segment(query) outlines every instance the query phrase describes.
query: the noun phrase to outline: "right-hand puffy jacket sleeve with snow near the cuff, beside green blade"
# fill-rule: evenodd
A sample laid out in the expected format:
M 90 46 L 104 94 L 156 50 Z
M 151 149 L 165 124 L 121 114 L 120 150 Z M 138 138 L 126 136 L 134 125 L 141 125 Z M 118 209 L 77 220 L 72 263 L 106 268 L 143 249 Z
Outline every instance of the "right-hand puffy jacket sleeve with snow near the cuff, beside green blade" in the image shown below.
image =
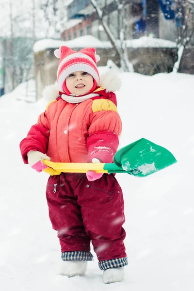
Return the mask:
M 88 162 L 92 162 L 93 158 L 97 158 L 100 162 L 113 162 L 119 144 L 118 137 L 122 130 L 121 118 L 113 104 L 106 106 L 105 103 L 105 106 L 96 109 L 93 106 L 93 110 L 96 112 L 93 113 L 87 138 Z

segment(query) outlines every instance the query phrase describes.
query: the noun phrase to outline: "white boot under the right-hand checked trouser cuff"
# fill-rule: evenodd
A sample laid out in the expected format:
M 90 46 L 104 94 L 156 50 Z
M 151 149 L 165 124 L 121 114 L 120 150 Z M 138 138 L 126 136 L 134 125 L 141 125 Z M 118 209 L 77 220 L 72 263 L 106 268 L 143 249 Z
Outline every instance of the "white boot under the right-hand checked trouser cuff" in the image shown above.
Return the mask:
M 105 284 L 109 284 L 114 282 L 120 282 L 124 279 L 124 277 L 125 277 L 124 267 L 121 267 L 107 269 L 103 271 L 102 279 Z

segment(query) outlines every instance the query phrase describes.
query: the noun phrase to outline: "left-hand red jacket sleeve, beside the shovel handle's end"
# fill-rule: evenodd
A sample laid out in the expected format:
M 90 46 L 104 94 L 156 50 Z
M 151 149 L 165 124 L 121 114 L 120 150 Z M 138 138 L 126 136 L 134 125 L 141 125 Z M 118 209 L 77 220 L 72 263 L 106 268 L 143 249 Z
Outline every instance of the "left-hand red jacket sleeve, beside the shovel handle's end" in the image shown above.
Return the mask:
M 48 120 L 48 112 L 41 113 L 38 117 L 38 122 L 29 130 L 19 147 L 24 163 L 28 163 L 28 152 L 38 150 L 45 154 L 49 142 L 50 126 Z

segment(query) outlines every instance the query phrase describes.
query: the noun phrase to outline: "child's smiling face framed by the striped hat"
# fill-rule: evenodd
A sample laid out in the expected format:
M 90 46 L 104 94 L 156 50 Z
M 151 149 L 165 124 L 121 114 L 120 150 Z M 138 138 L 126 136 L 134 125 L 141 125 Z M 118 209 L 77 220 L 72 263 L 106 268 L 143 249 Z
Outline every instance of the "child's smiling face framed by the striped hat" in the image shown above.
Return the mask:
M 93 77 L 84 71 L 74 72 L 66 78 L 66 87 L 71 94 L 85 95 L 92 89 L 93 85 Z

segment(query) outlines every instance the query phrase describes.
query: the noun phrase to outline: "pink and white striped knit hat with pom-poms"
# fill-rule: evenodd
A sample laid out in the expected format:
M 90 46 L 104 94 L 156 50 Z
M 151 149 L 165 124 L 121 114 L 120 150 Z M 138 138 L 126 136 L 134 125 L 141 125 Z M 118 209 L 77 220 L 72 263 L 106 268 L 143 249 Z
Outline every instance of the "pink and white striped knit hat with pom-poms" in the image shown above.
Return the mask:
M 97 62 L 100 60 L 100 57 L 96 54 L 96 49 L 85 48 L 74 51 L 73 49 L 62 46 L 60 49 L 54 51 L 54 55 L 60 58 L 57 70 L 57 84 L 60 91 L 66 91 L 66 77 L 77 71 L 89 73 L 93 77 L 94 83 L 99 84 L 100 78 L 97 70 Z

